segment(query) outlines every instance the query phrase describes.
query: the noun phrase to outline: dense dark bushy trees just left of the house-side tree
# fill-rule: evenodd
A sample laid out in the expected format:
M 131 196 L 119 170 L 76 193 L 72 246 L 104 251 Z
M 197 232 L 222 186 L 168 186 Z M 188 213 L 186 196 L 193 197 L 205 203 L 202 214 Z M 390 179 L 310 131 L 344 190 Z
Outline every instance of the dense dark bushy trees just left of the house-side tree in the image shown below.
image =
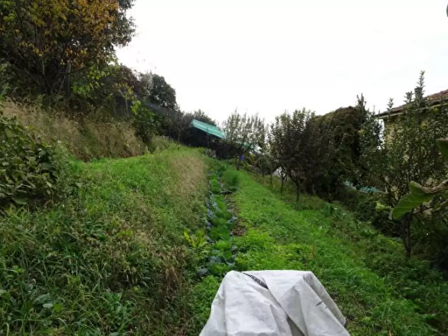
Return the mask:
M 268 157 L 301 191 L 332 200 L 357 184 L 359 130 L 365 119 L 363 98 L 357 107 L 340 108 L 323 116 L 307 109 L 284 112 L 270 125 Z

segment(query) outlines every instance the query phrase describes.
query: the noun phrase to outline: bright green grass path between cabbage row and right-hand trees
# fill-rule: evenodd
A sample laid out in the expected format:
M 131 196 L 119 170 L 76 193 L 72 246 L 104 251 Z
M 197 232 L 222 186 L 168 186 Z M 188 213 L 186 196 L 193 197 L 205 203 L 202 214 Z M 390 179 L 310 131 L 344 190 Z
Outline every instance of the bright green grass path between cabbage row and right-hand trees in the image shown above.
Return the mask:
M 280 198 L 247 173 L 239 175 L 240 190 L 234 195 L 234 203 L 240 225 L 246 231 L 234 238 L 239 251 L 238 270 L 313 271 L 347 317 L 347 329 L 354 336 L 445 334 L 443 329 L 436 331 L 427 323 L 432 314 L 419 311 L 415 302 L 397 291 L 386 276 L 367 266 L 366 256 L 362 255 L 366 251 L 358 248 L 360 244 L 349 241 L 343 231 L 335 234 L 340 231 L 339 226 L 353 222 L 344 218 L 349 215 L 307 196 L 301 201 L 306 204 L 297 211 L 295 204 L 285 202 L 288 196 Z M 359 230 L 366 231 L 363 232 L 365 242 L 370 236 L 377 237 L 371 230 Z M 399 247 L 385 237 L 378 236 L 378 239 Z M 218 285 L 219 280 L 209 276 L 195 288 L 194 309 L 202 323 Z M 438 303 L 446 308 L 442 299 Z M 443 316 L 440 318 L 443 321 Z

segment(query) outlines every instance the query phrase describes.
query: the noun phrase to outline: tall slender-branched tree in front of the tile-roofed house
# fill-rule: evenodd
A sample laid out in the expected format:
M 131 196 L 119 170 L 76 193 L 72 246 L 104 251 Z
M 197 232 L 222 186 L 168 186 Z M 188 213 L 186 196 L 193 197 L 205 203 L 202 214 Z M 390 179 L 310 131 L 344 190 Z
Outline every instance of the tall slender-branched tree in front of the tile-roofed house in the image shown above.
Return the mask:
M 446 176 L 447 164 L 439 155 L 435 139 L 448 134 L 446 108 L 430 106 L 423 97 L 424 72 L 421 72 L 417 87 L 406 93 L 404 111 L 397 118 L 394 128 L 386 128 L 384 142 L 373 148 L 371 144 L 381 141 L 374 123 L 363 129 L 364 162 L 371 167 L 370 181 L 376 181 L 387 197 L 388 205 L 397 206 L 399 200 L 412 191 L 418 193 L 418 186 L 435 187 L 437 181 Z M 392 101 L 389 102 L 389 110 Z M 413 185 L 411 181 L 418 185 Z M 411 187 L 409 187 L 411 186 Z M 428 189 L 430 190 L 430 189 Z M 429 199 L 428 199 L 429 200 Z M 423 215 L 424 207 L 407 212 L 399 218 L 400 235 L 409 257 L 412 251 L 411 228 L 417 217 Z M 395 213 L 397 210 L 395 210 Z M 398 217 L 398 216 L 396 216 Z

